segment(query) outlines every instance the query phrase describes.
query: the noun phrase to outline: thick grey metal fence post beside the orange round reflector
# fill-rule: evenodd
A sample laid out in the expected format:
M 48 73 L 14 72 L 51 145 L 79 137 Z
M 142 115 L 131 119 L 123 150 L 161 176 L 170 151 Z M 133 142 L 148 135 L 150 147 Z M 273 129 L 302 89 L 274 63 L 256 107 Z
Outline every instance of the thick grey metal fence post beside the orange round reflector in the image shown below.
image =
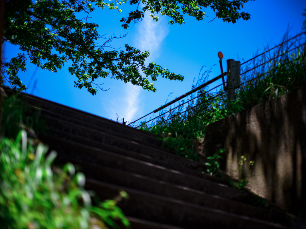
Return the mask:
M 227 102 L 235 101 L 235 88 L 240 87 L 240 61 L 226 60 Z

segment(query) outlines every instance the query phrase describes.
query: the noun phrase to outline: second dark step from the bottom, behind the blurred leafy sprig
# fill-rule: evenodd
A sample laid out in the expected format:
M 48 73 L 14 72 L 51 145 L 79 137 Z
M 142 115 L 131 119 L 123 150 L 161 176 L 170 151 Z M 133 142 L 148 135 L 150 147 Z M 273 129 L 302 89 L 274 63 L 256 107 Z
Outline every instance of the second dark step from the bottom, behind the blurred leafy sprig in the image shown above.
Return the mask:
M 114 198 L 122 188 L 94 179 L 87 179 L 86 189 L 94 190 L 101 199 Z M 235 229 L 281 229 L 280 224 L 270 223 L 247 216 L 226 213 L 193 203 L 163 197 L 131 188 L 124 188 L 129 200 L 118 203 L 126 216 L 169 224 L 188 229 L 235 228 Z

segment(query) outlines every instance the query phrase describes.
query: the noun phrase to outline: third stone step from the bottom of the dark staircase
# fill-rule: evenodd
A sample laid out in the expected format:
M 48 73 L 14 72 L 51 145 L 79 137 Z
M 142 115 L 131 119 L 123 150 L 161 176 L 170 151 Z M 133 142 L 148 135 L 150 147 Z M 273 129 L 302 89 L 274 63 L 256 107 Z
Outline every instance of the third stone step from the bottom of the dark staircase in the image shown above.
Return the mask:
M 66 158 L 69 161 L 69 158 Z M 81 171 L 87 178 L 92 178 L 105 183 L 115 184 L 144 191 L 160 196 L 174 198 L 185 202 L 190 202 L 200 206 L 219 209 L 227 213 L 241 214 L 259 220 L 290 225 L 286 220 L 286 215 L 268 211 L 267 209 L 253 207 L 240 202 L 235 202 L 217 195 L 206 194 L 192 188 L 174 185 L 169 182 L 152 179 L 136 173 L 129 173 L 119 169 L 107 168 L 105 166 L 93 165 L 84 161 L 72 160 L 73 164 L 81 166 Z

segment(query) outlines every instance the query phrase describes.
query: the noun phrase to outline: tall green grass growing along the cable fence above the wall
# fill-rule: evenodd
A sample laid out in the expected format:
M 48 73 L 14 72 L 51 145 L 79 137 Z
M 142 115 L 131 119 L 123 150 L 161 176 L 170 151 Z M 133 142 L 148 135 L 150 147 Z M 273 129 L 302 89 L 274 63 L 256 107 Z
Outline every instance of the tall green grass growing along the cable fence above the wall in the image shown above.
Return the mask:
M 169 112 L 160 111 L 159 118 L 150 125 L 143 123 L 140 129 L 158 135 L 163 145 L 177 155 L 196 161 L 204 159 L 205 152 L 200 145 L 207 124 L 306 85 L 304 40 L 298 37 L 284 43 L 287 39 L 288 32 L 273 52 L 264 53 L 242 66 L 241 88 L 236 90 L 236 100 L 232 103 L 227 103 L 222 89 L 212 92 L 206 87 L 188 96 L 179 106 L 170 107 Z M 267 45 L 266 50 L 269 49 Z M 258 51 L 254 56 L 258 56 Z M 207 81 L 210 73 L 211 69 L 199 74 L 192 88 Z

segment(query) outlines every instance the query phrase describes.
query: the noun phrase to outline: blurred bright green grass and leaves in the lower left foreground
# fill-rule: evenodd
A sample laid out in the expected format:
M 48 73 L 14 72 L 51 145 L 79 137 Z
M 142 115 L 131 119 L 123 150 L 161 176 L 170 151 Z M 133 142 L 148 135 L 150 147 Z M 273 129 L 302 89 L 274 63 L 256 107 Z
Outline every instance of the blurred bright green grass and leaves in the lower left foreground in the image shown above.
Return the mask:
M 128 198 L 121 190 L 114 200 L 100 202 L 84 189 L 85 176 L 73 164 L 52 165 L 57 153 L 38 143 L 33 129 L 41 122 L 27 116 L 17 95 L 2 100 L 0 138 L 0 228 L 129 228 L 129 221 L 116 206 Z M 36 119 L 37 118 L 37 119 Z M 17 134 L 16 134 L 17 133 Z M 91 199 L 98 199 L 92 205 Z M 96 228 L 95 227 L 95 228 Z

